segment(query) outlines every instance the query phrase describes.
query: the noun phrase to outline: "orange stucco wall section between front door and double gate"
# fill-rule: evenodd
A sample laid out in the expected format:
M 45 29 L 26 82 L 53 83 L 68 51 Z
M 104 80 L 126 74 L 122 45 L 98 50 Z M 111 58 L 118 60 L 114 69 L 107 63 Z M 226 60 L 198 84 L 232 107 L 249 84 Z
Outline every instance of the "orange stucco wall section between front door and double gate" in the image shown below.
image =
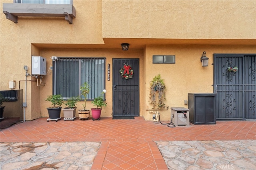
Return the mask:
M 149 105 L 150 81 L 161 74 L 166 83 L 166 106 L 185 107 L 188 93 L 214 93 L 213 53 L 255 53 L 255 45 L 154 45 L 146 48 L 146 109 Z M 209 58 L 208 67 L 202 67 L 200 57 L 203 51 Z M 152 64 L 152 55 L 175 55 L 175 64 Z M 170 109 L 159 111 L 161 120 L 170 119 Z M 149 113 L 149 111 L 147 111 Z M 146 114 L 146 119 L 152 119 Z

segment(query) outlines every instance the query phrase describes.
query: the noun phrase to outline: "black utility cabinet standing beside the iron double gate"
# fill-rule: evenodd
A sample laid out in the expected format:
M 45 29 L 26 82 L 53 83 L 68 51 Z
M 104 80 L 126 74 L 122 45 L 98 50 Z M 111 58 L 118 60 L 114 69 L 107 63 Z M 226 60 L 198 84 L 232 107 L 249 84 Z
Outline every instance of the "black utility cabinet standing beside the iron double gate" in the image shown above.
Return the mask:
M 188 109 L 194 125 L 216 124 L 214 93 L 188 93 Z

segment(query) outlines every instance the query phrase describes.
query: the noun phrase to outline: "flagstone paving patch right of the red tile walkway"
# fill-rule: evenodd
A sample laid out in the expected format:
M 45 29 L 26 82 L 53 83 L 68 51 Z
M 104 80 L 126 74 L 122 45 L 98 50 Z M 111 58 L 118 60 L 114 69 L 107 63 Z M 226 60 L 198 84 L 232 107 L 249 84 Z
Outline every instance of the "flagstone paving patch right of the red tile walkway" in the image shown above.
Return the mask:
M 256 140 L 158 141 L 170 170 L 255 170 Z

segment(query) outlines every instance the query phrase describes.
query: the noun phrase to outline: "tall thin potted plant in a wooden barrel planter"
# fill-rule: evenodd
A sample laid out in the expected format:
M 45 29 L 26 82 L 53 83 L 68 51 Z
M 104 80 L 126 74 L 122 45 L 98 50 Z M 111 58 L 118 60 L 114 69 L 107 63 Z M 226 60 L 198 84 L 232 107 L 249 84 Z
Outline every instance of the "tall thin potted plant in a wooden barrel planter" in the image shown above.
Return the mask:
M 82 105 L 83 110 L 79 110 L 78 115 L 79 115 L 79 119 L 87 120 L 90 116 L 90 110 L 86 110 L 86 98 L 90 92 L 89 84 L 87 82 L 84 82 L 84 84 L 80 86 L 80 91 L 81 91 L 81 95 L 84 96 L 84 104 Z

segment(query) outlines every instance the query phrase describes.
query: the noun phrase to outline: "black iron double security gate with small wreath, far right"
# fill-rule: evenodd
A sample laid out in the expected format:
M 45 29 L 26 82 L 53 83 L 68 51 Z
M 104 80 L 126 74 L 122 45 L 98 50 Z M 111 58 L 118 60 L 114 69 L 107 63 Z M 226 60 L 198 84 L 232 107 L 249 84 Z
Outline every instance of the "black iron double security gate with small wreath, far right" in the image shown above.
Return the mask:
M 256 119 L 255 69 L 256 54 L 214 54 L 216 120 Z

